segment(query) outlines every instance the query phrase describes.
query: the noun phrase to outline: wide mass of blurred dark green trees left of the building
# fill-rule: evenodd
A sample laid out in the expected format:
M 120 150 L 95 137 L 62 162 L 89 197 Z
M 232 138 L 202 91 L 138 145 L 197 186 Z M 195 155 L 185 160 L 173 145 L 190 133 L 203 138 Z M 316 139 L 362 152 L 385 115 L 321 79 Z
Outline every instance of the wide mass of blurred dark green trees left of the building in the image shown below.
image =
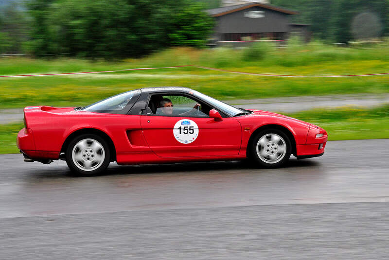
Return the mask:
M 172 45 L 202 46 L 213 25 L 204 6 L 189 0 L 33 0 L 29 8 L 35 53 L 139 57 Z

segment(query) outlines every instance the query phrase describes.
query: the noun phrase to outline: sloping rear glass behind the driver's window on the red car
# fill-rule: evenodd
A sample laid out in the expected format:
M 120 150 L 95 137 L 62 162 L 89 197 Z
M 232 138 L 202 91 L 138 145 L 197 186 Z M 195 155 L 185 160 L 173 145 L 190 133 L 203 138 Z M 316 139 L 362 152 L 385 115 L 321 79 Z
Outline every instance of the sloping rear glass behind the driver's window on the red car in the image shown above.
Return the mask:
M 121 111 L 131 101 L 133 97 L 139 94 L 141 90 L 132 90 L 124 92 L 96 103 L 82 107 L 80 110 L 97 112 L 97 111 Z

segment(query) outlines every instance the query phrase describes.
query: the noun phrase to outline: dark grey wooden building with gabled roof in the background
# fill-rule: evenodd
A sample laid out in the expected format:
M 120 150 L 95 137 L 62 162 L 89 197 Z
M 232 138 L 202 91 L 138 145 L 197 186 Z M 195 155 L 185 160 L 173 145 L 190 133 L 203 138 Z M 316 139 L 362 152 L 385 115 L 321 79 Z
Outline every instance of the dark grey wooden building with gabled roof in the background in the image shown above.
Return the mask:
M 216 19 L 212 36 L 214 45 L 245 46 L 264 39 L 284 41 L 291 32 L 308 33 L 306 28 L 309 25 L 289 23 L 289 16 L 298 14 L 296 11 L 263 1 L 247 0 L 247 3 L 234 5 L 230 2 L 225 0 L 226 6 L 207 10 Z M 307 35 L 301 36 L 307 38 Z

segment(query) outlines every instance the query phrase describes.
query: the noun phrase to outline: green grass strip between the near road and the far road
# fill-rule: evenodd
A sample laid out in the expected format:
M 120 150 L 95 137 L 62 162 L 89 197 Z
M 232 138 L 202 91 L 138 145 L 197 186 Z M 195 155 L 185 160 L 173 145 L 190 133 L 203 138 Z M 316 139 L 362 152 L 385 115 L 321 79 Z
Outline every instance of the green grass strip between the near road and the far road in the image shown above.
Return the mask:
M 389 105 L 373 108 L 338 108 L 287 114 L 327 130 L 329 140 L 389 138 Z M 0 125 L 0 154 L 18 153 L 16 136 L 23 123 Z

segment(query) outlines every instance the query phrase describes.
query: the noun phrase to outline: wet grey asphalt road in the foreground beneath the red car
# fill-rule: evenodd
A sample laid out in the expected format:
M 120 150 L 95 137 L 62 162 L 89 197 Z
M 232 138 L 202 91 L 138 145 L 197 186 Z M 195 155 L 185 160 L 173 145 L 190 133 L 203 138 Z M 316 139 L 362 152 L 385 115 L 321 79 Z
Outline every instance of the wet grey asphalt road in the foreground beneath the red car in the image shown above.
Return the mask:
M 282 169 L 117 166 L 69 176 L 0 156 L 0 259 L 389 259 L 389 139 Z

